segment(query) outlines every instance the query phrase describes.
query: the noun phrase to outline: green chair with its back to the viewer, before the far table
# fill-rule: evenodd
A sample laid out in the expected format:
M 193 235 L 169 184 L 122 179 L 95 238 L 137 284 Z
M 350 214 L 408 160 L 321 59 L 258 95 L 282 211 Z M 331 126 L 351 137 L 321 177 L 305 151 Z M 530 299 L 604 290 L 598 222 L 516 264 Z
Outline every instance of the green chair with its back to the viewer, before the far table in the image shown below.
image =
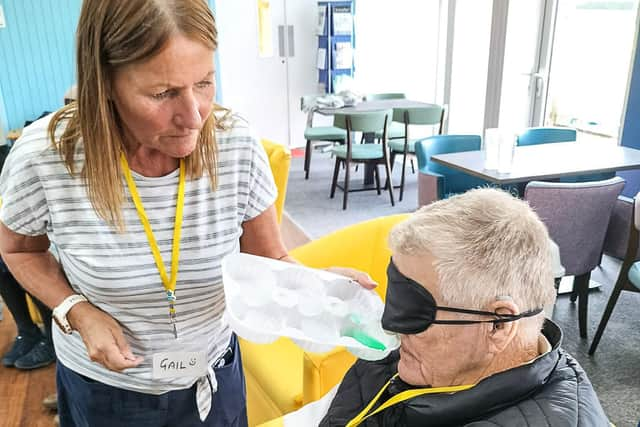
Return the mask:
M 391 121 L 393 110 L 368 111 L 363 113 L 336 113 L 334 116 L 334 125 L 347 132 L 347 143 L 342 146 L 333 147 L 331 150 L 336 157 L 336 163 L 333 169 L 333 181 L 331 182 L 331 195 L 333 196 L 338 186 L 338 173 L 340 166 L 344 165 L 345 177 L 342 209 L 347 209 L 347 196 L 349 191 L 370 190 L 370 188 L 349 189 L 349 172 L 351 163 L 365 163 L 373 166 L 373 173 L 376 181 L 375 189 L 378 194 L 380 191 L 380 172 L 378 165 L 383 164 L 387 173 L 386 188 L 389 191 L 391 206 L 395 206 L 393 200 L 393 184 L 391 183 L 391 165 L 389 164 L 389 153 L 387 150 L 387 125 Z M 377 132 L 382 130 L 381 144 L 353 144 L 353 132 Z

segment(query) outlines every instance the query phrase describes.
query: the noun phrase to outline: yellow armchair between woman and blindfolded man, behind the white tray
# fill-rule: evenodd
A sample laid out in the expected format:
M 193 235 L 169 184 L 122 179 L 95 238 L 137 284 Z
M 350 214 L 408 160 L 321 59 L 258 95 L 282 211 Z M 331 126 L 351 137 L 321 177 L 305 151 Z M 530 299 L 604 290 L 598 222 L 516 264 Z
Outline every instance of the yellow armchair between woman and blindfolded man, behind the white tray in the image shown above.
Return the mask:
M 392 215 L 348 226 L 294 249 L 291 255 L 309 267 L 344 266 L 366 271 L 378 282 L 377 291 L 384 297 L 390 257 L 387 235 L 406 217 Z M 240 346 L 250 426 L 319 399 L 342 380 L 355 361 L 343 348 L 311 354 L 286 338 L 266 345 L 240 340 Z

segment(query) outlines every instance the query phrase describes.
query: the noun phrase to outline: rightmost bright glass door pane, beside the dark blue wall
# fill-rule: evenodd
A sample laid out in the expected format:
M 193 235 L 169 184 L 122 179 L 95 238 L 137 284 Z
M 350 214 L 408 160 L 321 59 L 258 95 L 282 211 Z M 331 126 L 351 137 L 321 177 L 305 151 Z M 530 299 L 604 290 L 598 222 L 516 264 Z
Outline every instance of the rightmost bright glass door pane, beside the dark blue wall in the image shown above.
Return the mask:
M 558 0 L 545 126 L 618 142 L 637 11 L 638 0 Z

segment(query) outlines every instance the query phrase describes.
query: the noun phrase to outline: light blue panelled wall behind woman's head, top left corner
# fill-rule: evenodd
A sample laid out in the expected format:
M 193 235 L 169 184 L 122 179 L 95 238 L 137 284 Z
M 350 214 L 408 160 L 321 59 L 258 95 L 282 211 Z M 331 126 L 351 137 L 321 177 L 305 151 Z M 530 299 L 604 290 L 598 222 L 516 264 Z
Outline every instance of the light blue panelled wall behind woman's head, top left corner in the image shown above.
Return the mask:
M 0 93 L 8 128 L 63 103 L 75 80 L 74 36 L 81 0 L 4 0 Z

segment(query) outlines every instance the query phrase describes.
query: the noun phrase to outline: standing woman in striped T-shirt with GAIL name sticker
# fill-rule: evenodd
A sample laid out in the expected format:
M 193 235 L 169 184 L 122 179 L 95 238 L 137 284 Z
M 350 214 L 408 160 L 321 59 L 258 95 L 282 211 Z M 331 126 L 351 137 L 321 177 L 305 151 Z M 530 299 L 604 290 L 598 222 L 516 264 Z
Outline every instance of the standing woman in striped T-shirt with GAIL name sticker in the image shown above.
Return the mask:
M 85 0 L 77 103 L 7 159 L 0 250 L 55 307 L 63 426 L 247 423 L 220 262 L 292 260 L 262 148 L 213 104 L 216 46 L 204 0 Z

